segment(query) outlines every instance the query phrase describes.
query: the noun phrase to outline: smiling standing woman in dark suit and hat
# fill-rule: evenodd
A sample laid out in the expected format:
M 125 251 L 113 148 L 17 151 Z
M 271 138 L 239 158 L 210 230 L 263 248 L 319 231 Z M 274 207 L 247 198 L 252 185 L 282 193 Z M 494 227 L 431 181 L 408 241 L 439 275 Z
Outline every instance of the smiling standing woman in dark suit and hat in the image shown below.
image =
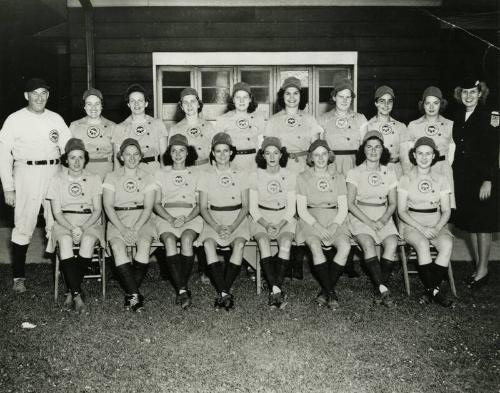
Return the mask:
M 473 289 L 488 281 L 492 233 L 500 230 L 499 115 L 484 107 L 488 93 L 485 82 L 470 77 L 455 89 L 455 99 L 462 106 L 453 125 L 457 141 L 453 163 L 457 197 L 454 223 L 470 234 L 476 262 L 470 281 Z

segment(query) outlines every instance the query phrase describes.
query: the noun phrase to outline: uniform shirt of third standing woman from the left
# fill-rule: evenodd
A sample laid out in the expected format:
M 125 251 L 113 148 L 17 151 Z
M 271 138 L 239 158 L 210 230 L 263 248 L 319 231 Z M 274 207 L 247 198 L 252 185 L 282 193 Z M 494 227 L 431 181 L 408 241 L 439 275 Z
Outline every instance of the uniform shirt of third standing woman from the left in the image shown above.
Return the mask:
M 198 160 L 208 159 L 215 135 L 215 129 L 210 122 L 198 117 L 197 124 L 189 125 L 186 119 L 182 119 L 170 128 L 169 137 L 175 134 L 182 134 L 187 138 L 188 143 L 196 149 Z

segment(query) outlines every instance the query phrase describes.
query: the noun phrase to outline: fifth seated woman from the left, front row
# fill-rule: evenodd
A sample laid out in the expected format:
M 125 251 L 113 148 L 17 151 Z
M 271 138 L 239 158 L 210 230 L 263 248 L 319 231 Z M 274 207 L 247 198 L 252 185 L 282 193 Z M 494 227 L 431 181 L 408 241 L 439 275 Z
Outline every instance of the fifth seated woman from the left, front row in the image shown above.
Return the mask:
M 269 284 L 269 306 L 283 308 L 283 281 L 295 234 L 296 176 L 285 167 L 288 153 L 279 138 L 267 137 L 257 152 L 259 169 L 250 174 L 250 232 L 259 244 L 260 265 Z M 278 254 L 271 255 L 271 240 Z

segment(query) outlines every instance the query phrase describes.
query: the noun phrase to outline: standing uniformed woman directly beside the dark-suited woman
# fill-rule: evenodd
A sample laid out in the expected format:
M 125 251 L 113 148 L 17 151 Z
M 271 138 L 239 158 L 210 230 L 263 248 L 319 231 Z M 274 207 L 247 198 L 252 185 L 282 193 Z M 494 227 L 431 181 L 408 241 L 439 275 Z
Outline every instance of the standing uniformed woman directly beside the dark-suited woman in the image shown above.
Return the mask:
M 455 191 L 453 183 L 453 171 L 451 164 L 455 156 L 455 142 L 453 141 L 453 121 L 441 115 L 446 109 L 448 101 L 443 98 L 441 90 L 435 86 L 429 86 L 422 94 L 422 100 L 418 103 L 419 110 L 423 116 L 408 124 L 406 138 L 402 141 L 401 154 L 408 154 L 416 140 L 423 136 L 432 138 L 439 150 L 438 161 L 432 170 L 446 176 L 451 186 L 451 208 L 455 209 Z

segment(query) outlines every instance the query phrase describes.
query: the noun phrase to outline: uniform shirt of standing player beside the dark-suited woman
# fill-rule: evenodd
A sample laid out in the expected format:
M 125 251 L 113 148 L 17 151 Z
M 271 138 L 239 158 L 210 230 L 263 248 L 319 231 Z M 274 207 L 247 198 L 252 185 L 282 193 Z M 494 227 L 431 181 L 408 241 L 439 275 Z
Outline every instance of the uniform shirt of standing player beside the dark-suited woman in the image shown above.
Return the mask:
M 439 116 L 436 122 L 429 122 L 425 116 L 413 120 L 408 124 L 406 140 L 402 142 L 412 142 L 414 144 L 418 138 L 430 137 L 436 143 L 441 156 L 448 158 L 450 145 L 453 143 L 453 121 Z

